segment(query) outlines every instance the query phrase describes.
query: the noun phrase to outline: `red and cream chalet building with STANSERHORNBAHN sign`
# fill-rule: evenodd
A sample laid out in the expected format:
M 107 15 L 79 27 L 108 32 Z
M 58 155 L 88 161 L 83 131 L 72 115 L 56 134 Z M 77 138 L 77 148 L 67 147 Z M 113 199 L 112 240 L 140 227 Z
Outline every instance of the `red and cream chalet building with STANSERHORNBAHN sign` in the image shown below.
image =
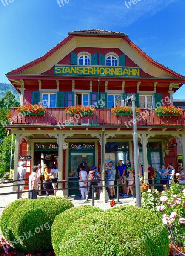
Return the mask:
M 16 135 L 14 169 L 25 160 L 27 176 L 34 165 L 56 163 L 59 179 L 73 179 L 71 186 L 77 186 L 80 163 L 98 166 L 103 154 L 116 165 L 119 159 L 130 160 L 134 169 L 133 118 L 111 113 L 129 93 L 141 109 L 137 132 L 145 179 L 148 162 L 156 169 L 174 163 L 177 169 L 177 148 L 171 147 L 176 138 L 185 159 L 185 113 L 167 117 L 154 112 L 173 105 L 172 95 L 185 77 L 154 61 L 124 33 L 73 31 L 45 55 L 6 76 L 20 93 L 20 105 L 47 108 L 44 115 L 21 115 L 12 108 L 6 125 Z M 73 105 L 93 105 L 96 112 L 71 121 L 65 108 Z

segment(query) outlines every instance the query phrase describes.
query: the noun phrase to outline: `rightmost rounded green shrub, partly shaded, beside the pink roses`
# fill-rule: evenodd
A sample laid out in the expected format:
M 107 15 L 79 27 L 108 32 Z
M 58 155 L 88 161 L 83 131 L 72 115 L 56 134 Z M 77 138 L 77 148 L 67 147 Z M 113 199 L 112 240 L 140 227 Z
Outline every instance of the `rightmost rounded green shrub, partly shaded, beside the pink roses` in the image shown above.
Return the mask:
M 165 226 L 153 212 L 137 206 L 120 206 L 106 211 L 119 212 L 125 217 L 125 221 L 137 224 L 137 229 L 141 229 L 147 239 L 151 253 L 154 256 L 169 255 L 169 239 Z

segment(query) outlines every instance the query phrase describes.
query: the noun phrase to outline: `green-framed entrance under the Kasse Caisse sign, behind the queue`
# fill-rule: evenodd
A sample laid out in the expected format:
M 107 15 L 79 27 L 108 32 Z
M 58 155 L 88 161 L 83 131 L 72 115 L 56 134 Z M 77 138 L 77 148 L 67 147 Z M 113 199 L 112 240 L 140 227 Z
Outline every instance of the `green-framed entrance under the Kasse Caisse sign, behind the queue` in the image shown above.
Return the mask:
M 94 152 L 90 151 L 78 151 L 70 152 L 69 155 L 69 187 L 78 187 L 77 182 L 77 169 L 80 167 L 80 163 L 86 162 L 87 165 L 91 168 L 95 165 Z M 78 195 L 79 189 L 70 189 L 69 195 Z

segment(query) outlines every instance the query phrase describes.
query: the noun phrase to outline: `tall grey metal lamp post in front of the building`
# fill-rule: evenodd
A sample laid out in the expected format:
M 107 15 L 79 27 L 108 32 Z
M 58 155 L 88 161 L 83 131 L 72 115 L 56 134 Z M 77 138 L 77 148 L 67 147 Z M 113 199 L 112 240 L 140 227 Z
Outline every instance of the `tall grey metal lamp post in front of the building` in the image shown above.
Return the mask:
M 134 169 L 135 169 L 135 183 L 136 183 L 136 205 L 141 207 L 141 188 L 139 177 L 139 148 L 138 148 L 138 136 L 136 126 L 136 108 L 135 108 L 135 95 L 131 95 L 128 100 L 132 102 L 132 115 L 133 115 L 133 144 L 134 144 Z

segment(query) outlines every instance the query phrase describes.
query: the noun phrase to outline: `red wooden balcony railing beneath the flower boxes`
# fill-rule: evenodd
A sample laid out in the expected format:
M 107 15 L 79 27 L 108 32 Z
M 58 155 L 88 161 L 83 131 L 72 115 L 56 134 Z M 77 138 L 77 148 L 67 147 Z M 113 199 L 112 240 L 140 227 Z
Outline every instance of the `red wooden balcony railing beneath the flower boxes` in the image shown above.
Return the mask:
M 12 125 L 133 125 L 132 116 L 114 116 L 110 108 L 96 108 L 96 112 L 90 116 L 70 116 L 65 113 L 65 108 L 47 108 L 44 115 L 31 116 L 16 112 L 17 108 L 11 108 Z M 137 116 L 138 126 L 185 126 L 185 111 L 178 117 L 157 116 L 154 110 L 142 110 Z

